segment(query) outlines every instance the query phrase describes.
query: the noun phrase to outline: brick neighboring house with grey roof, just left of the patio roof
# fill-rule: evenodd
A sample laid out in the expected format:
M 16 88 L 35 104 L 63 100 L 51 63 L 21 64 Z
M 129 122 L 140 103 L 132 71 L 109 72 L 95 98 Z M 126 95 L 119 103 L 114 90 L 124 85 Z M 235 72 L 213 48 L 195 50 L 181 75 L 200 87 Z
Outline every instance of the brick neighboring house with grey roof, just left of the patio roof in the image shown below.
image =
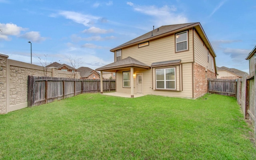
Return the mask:
M 80 67 L 77 69 L 80 72 L 81 79 L 100 79 L 99 72 L 88 68 L 88 67 Z

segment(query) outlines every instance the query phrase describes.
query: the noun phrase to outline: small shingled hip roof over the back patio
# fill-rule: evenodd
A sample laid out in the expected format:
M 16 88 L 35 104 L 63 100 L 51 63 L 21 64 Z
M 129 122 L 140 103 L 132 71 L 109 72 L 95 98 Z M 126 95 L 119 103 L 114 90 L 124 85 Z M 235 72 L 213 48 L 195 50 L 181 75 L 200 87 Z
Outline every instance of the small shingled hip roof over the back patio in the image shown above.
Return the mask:
M 99 71 L 100 70 L 111 70 L 111 69 L 116 69 L 116 68 L 127 68 L 127 67 L 139 67 L 139 68 L 146 68 L 146 69 L 151 68 L 150 66 L 148 66 L 132 57 L 127 57 L 127 58 L 124 58 L 117 62 L 113 62 L 106 66 L 97 68 L 96 70 L 99 70 Z

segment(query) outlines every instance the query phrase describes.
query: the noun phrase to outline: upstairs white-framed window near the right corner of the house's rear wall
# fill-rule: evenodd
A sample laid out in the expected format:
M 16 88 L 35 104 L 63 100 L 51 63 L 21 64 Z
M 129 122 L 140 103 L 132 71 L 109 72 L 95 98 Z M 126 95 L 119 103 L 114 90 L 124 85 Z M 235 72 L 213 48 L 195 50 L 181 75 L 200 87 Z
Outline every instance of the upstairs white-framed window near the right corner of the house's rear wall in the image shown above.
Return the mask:
M 188 50 L 188 31 L 178 33 L 176 36 L 176 52 Z

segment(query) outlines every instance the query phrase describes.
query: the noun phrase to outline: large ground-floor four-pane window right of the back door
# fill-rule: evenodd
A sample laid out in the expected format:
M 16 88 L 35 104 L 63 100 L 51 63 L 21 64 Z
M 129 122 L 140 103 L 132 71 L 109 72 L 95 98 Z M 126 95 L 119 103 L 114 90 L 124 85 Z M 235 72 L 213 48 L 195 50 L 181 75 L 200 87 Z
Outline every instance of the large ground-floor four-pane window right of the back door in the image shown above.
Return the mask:
M 175 68 L 156 69 L 156 89 L 176 89 Z

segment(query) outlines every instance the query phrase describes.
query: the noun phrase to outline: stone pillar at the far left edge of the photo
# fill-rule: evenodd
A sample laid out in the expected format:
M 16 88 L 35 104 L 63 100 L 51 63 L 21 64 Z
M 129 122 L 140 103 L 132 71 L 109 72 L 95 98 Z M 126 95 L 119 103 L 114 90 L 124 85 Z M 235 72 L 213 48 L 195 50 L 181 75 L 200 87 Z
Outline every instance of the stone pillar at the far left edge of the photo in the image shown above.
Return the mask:
M 6 112 L 6 63 L 8 56 L 0 54 L 0 114 Z

